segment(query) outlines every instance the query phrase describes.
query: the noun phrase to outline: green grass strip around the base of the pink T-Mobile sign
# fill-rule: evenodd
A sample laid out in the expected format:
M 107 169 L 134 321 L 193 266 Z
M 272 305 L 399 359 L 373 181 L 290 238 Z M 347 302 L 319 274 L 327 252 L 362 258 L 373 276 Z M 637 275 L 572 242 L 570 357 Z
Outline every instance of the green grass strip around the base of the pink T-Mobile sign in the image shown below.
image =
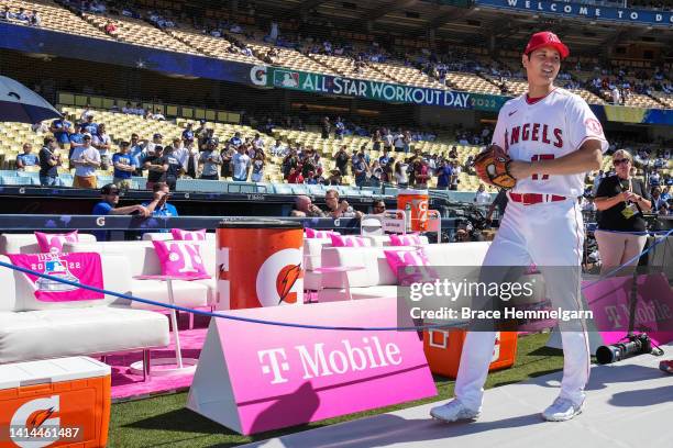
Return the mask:
M 548 337 L 548 334 L 537 334 L 519 338 L 518 356 L 515 366 L 511 369 L 490 373 L 486 388 L 497 388 L 561 370 L 563 368 L 561 350 L 545 348 L 544 344 Z M 361 412 L 309 425 L 258 434 L 252 437 L 240 436 L 185 408 L 187 393 L 119 403 L 112 405 L 108 443 L 110 447 L 231 447 L 417 406 L 437 400 L 444 400 L 453 394 L 454 382 L 452 380 L 435 377 L 434 381 L 439 395 L 433 399 Z

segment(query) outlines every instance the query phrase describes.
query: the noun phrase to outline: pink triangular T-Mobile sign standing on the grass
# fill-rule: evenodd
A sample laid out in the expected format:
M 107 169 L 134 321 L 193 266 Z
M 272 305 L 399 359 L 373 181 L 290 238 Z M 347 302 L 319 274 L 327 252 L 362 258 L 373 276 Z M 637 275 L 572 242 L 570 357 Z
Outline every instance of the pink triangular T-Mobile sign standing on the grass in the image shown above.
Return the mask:
M 228 314 L 338 327 L 397 325 L 396 299 Z M 214 318 L 188 407 L 247 435 L 435 394 L 417 332 L 309 329 Z

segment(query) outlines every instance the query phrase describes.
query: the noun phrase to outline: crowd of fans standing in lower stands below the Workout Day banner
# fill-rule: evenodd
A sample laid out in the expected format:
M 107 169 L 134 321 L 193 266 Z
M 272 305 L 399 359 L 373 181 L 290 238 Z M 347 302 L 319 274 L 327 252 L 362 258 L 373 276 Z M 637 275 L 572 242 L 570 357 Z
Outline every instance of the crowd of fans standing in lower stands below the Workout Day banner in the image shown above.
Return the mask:
M 119 112 L 146 115 L 140 103 L 134 108 L 129 102 Z M 411 132 L 386 127 L 375 128 L 369 142 L 352 154 L 346 145 L 342 145 L 332 155 L 330 164 L 324 163 L 319 150 L 299 143 L 277 138 L 267 147 L 261 133 L 253 137 L 244 137 L 239 132 L 230 136 L 216 135 L 205 120 L 196 127 L 188 123 L 181 135 L 170 141 L 165 141 L 158 133 L 151 139 L 132 134 L 128 139 L 114 142 L 119 150 L 113 153 L 113 142 L 106 131 L 106 124 L 97 122 L 96 114 L 87 107 L 74 122 L 58 119 L 46 130 L 42 128 L 44 126 L 36 127 L 36 132 L 45 133 L 43 147 L 35 154 L 31 144 L 24 144 L 23 153 L 16 156 L 16 169 L 40 166 L 41 183 L 55 186 L 58 168 L 67 165 L 74 169 L 74 187 L 80 188 L 97 188 L 97 170 L 110 169 L 113 183 L 122 190 L 131 188 L 132 177 L 143 175 L 147 178 L 147 189 L 165 182 L 170 190 L 175 190 L 177 179 L 185 177 L 263 182 L 268 163 L 279 164 L 286 182 L 305 184 L 340 186 L 344 177 L 352 177 L 357 187 L 391 184 L 428 188 L 430 179 L 435 178 L 433 183 L 438 189 L 457 190 L 461 173 L 474 175 L 472 156 L 461 157 L 457 146 L 453 146 L 448 154 L 422 153 L 411 145 Z M 329 117 L 323 120 L 330 122 Z M 341 122 L 341 117 L 334 120 L 335 124 Z M 336 125 L 323 128 L 322 136 L 339 141 L 343 138 L 340 128 Z M 477 131 L 459 126 L 453 135 L 460 145 L 486 145 L 492 132 L 488 126 Z M 668 168 L 672 155 L 669 146 L 662 144 L 651 149 L 648 145 L 637 146 L 633 142 L 614 138 L 608 153 L 617 148 L 627 148 L 633 154 L 635 165 L 646 176 L 654 198 L 654 211 L 662 215 L 673 214 L 673 178 Z M 328 169 L 328 166 L 334 169 Z M 589 178 L 593 188 L 588 187 L 585 192 L 583 206 L 586 210 L 595 206 L 593 197 L 597 186 L 609 173 L 599 171 L 593 179 Z M 483 197 L 479 200 L 485 200 L 487 193 L 479 190 L 477 197 L 479 193 Z

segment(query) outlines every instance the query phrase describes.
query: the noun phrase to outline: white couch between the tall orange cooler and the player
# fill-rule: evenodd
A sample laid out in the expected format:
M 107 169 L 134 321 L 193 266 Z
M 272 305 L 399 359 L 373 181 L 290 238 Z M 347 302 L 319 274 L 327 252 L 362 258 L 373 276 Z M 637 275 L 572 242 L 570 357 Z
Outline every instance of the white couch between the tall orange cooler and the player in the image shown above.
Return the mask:
M 431 266 L 481 266 L 488 250 L 489 242 L 444 243 L 422 246 Z M 364 269 L 322 275 L 319 302 L 346 299 L 393 298 L 397 295 L 397 278 L 390 269 L 385 250 L 415 250 L 412 246 L 397 247 L 326 247 L 322 250 L 322 266 L 363 266 Z

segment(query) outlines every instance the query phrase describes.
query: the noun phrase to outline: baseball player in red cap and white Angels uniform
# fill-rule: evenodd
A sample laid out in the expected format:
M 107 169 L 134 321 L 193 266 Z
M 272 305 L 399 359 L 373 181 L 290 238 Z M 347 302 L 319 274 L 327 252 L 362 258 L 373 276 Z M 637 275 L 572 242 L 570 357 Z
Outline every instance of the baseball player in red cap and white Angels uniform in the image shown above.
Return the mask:
M 490 148 L 497 145 L 511 158 L 506 167 L 516 184 L 508 192 L 509 204 L 484 266 L 534 264 L 544 277 L 552 307 L 578 310 L 584 229 L 577 198 L 584 192 L 585 173 L 600 167 L 608 143 L 587 103 L 553 86 L 569 54 L 555 34 L 533 34 L 521 57 L 528 93 L 505 103 L 498 114 Z M 567 421 L 582 412 L 591 359 L 585 328 L 583 321 L 572 331 L 561 328 L 563 380 L 559 396 L 542 413 L 547 421 Z M 479 416 L 495 338 L 490 331 L 467 334 L 455 399 L 433 407 L 434 418 L 456 422 Z

